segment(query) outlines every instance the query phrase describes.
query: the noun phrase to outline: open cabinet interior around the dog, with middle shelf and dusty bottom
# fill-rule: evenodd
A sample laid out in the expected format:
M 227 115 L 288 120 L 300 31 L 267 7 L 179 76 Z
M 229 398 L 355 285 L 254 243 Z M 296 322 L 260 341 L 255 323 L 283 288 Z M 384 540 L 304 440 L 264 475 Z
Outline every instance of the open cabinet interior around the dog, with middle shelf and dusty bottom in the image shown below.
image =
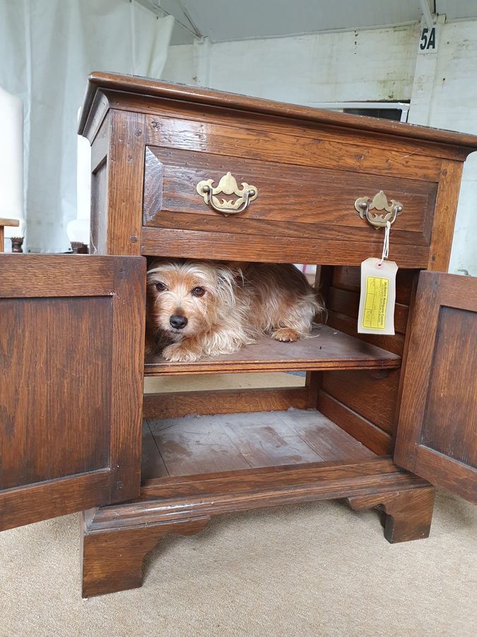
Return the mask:
M 149 386 L 153 377 L 169 380 L 165 390 L 144 394 L 143 484 L 262 467 L 343 465 L 390 454 L 417 273 L 398 271 L 395 335 L 358 335 L 359 267 L 320 266 L 316 287 L 328 317 L 314 328 L 314 338 L 278 343 L 264 337 L 233 355 L 194 363 L 146 357 Z M 221 374 L 240 372 L 275 374 L 279 382 L 210 388 Z M 196 374 L 210 377 L 207 389 L 190 389 Z

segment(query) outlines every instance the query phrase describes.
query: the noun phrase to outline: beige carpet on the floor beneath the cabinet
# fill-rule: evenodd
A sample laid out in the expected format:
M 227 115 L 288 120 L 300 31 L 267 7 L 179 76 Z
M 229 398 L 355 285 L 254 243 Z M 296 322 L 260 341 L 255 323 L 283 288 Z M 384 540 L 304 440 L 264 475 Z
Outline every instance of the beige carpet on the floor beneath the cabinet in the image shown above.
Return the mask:
M 71 515 L 0 534 L 0 636 L 471 636 L 476 530 L 443 493 L 405 544 L 336 501 L 226 515 L 161 541 L 141 589 L 85 601 Z

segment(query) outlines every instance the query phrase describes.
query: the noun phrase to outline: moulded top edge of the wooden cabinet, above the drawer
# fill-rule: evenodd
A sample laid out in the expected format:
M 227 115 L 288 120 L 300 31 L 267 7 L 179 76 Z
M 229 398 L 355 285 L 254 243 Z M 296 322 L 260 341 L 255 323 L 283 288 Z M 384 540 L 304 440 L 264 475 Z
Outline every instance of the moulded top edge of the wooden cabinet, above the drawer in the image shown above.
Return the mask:
M 95 110 L 95 97 L 97 93 L 105 91 L 132 93 L 145 98 L 158 100 L 175 100 L 184 103 L 201 104 L 228 108 L 233 110 L 270 115 L 274 117 L 288 117 L 294 120 L 302 120 L 315 124 L 337 126 L 350 130 L 363 130 L 391 134 L 398 137 L 416 139 L 416 141 L 437 142 L 439 144 L 452 144 L 454 146 L 469 147 L 477 150 L 477 136 L 467 133 L 441 130 L 425 126 L 404 124 L 381 120 L 376 117 L 363 115 L 351 115 L 337 113 L 336 111 L 312 108 L 254 98 L 236 93 L 224 93 L 213 91 L 210 88 L 187 86 L 186 84 L 172 84 L 155 79 L 121 75 L 117 73 L 104 73 L 95 71 L 88 77 L 83 108 L 78 127 L 79 134 L 83 134 L 90 115 Z

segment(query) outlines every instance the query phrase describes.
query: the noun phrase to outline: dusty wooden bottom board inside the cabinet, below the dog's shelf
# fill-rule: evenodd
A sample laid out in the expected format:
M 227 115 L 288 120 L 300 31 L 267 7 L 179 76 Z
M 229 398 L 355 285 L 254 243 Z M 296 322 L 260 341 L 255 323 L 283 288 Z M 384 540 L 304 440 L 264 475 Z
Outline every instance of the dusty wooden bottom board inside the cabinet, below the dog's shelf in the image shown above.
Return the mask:
M 315 409 L 143 421 L 143 480 L 374 457 Z

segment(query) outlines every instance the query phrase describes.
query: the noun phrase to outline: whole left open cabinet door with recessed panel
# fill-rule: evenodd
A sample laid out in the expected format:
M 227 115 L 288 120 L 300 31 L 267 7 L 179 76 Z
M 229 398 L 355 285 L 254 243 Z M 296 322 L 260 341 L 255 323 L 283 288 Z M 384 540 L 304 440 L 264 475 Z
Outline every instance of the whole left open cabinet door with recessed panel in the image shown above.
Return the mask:
M 139 494 L 146 260 L 0 255 L 0 530 Z

